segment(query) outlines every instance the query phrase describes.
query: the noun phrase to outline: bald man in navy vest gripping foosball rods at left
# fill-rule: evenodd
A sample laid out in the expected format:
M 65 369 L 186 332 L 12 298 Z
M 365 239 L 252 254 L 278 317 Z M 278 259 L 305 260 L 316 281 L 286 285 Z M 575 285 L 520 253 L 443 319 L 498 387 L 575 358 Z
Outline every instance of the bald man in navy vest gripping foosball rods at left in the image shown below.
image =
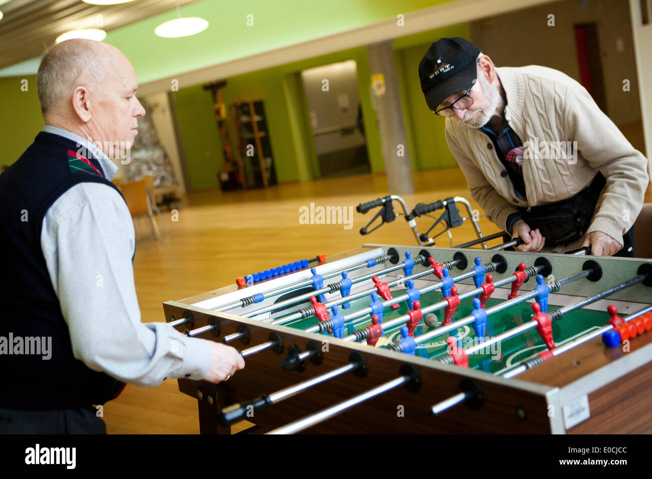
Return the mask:
M 96 405 L 125 383 L 218 383 L 244 360 L 140 322 L 134 227 L 110 181 L 110 158 L 132 145 L 145 114 L 128 59 L 67 40 L 43 57 L 37 83 L 46 126 L 0 175 L 0 433 L 106 433 Z

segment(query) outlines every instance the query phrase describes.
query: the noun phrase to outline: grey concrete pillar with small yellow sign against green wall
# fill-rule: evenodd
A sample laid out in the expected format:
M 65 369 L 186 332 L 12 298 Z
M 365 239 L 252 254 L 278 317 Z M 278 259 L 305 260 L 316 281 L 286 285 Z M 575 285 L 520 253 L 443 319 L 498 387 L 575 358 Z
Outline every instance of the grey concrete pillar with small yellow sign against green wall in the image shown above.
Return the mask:
M 385 77 L 385 96 L 372 95 L 380 131 L 381 151 L 385 160 L 387 188 L 390 194 L 404 195 L 414 192 L 412 166 L 408 151 L 408 137 L 403 123 L 403 108 L 398 91 L 398 75 L 394 63 L 392 40 L 367 47 L 371 74 Z M 403 145 L 402 149 L 399 145 Z M 404 156 L 398 156 L 402 151 Z

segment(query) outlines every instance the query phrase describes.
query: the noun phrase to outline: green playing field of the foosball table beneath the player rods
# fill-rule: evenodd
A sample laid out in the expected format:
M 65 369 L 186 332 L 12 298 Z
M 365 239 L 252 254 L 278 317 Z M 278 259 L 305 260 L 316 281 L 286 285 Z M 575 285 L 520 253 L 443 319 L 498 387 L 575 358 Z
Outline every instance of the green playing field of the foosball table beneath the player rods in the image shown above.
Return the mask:
M 395 289 L 392 291 L 394 296 L 402 295 L 405 293 L 405 289 Z M 527 292 L 527 291 L 526 291 Z M 522 291 L 523 293 L 523 291 Z M 380 299 L 380 298 L 379 298 Z M 434 304 L 443 299 L 443 295 L 439 291 L 431 291 L 430 293 L 425 293 L 421 295 L 421 308 L 425 308 L 430 304 Z M 501 303 L 503 300 L 490 298 L 486 303 L 486 308 L 495 306 L 496 304 Z M 340 313 L 345 316 L 361 310 L 366 306 L 369 306 L 370 298 L 363 297 L 351 301 L 351 308 L 343 310 L 340 308 Z M 531 321 L 532 319 L 532 310 L 529 302 L 524 302 L 522 304 L 516 304 L 511 306 L 506 310 L 503 310 L 498 313 L 494 313 L 488 317 L 486 325 L 486 336 L 492 337 L 501 334 L 507 330 L 522 324 Z M 307 305 L 307 304 L 306 304 Z M 548 312 L 557 307 L 553 304 L 548 304 Z M 473 310 L 473 298 L 467 298 L 460 302 L 457 311 L 454 315 L 454 319 L 461 319 L 467 317 L 471 314 Z M 406 301 L 400 303 L 400 308 L 396 311 L 392 311 L 389 308 L 385 308 L 383 314 L 383 323 L 394 319 L 400 315 L 406 314 L 408 311 L 408 304 Z M 330 311 L 329 311 L 330 313 Z M 443 309 L 435 312 L 439 324 L 443 321 Z M 557 346 L 566 343 L 567 341 L 574 340 L 578 336 L 585 334 L 591 330 L 601 328 L 606 325 L 609 319 L 609 315 L 606 312 L 591 311 L 591 310 L 576 310 L 574 312 L 564 315 L 559 321 L 552 323 L 552 334 Z M 307 319 L 299 319 L 293 321 L 292 323 L 286 324 L 286 326 L 298 329 L 304 329 L 311 327 L 316 324 L 316 318 L 309 317 Z M 366 328 L 371 324 L 370 315 L 366 314 L 363 317 L 352 319 L 347 322 L 344 327 L 345 336 L 351 334 L 355 329 Z M 404 323 L 403 323 L 404 324 Z M 381 338 L 378 342 L 379 347 L 384 347 L 387 344 L 387 341 L 394 342 L 400 339 L 400 328 L 402 325 L 398 325 L 393 328 L 389 328 L 385 331 L 385 338 Z M 438 327 L 438 326 L 437 326 Z M 425 332 L 431 331 L 433 328 L 428 328 L 421 321 L 420 325 L 415 329 L 415 336 L 423 334 Z M 327 334 L 324 332 L 323 334 Z M 432 340 L 426 341 L 424 344 L 417 344 L 416 355 L 426 357 L 426 358 L 437 358 L 440 356 L 446 355 L 446 338 L 449 334 L 443 334 L 434 338 Z M 473 323 L 469 325 L 462 326 L 458 328 L 456 336 L 460 338 L 460 345 L 475 345 L 477 344 L 477 338 L 475 330 L 473 329 Z M 523 334 L 518 334 L 509 340 L 496 343 L 486 347 L 484 350 L 479 351 L 475 355 L 469 356 L 469 366 L 471 368 L 477 368 L 490 373 L 495 373 L 505 367 L 514 366 L 521 362 L 522 360 L 533 356 L 537 353 L 540 353 L 546 349 L 546 345 L 543 340 L 539 337 L 537 330 L 531 329 Z

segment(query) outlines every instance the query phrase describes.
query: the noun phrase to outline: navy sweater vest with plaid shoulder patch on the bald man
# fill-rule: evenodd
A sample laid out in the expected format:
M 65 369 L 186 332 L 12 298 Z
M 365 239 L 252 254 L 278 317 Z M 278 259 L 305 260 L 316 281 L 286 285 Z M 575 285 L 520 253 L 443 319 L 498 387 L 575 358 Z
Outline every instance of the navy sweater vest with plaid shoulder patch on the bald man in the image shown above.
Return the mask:
M 0 175 L 0 407 L 90 407 L 117 396 L 124 386 L 74 358 L 40 245 L 46 212 L 72 186 L 96 182 L 115 188 L 104 178 L 98 161 L 80 157 L 78 150 L 75 141 L 40 132 Z M 48 337 L 49 360 L 44 354 L 25 354 L 37 352 L 37 341 L 29 338 L 41 343 L 40 338 Z

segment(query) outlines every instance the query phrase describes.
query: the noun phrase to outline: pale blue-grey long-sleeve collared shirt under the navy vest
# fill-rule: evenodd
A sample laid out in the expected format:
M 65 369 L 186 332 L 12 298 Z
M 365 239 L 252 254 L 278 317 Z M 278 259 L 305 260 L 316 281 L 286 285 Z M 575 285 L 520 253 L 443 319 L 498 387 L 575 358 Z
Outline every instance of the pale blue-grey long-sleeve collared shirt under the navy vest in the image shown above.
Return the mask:
M 95 155 L 106 179 L 115 176 L 117 166 L 86 139 L 49 125 L 43 131 L 76 141 Z M 135 247 L 125 201 L 106 184 L 77 184 L 46 213 L 41 248 L 75 358 L 139 386 L 203 379 L 211 362 L 208 341 L 188 338 L 166 323 L 140 322 Z

